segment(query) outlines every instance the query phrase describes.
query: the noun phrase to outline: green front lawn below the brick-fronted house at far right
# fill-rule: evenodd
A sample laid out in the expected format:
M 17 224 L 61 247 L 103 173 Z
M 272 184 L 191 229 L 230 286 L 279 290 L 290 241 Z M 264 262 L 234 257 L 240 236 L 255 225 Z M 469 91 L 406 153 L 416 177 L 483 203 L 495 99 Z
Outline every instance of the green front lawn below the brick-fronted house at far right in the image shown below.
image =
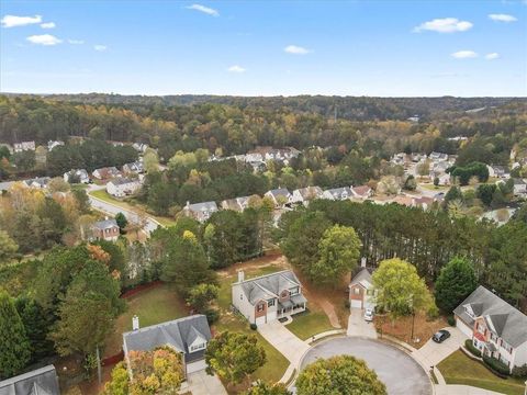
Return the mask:
M 470 359 L 462 351 L 456 351 L 440 362 L 437 368 L 447 384 L 464 384 L 503 394 L 524 395 L 525 384 L 522 380 L 500 379 L 482 363 Z

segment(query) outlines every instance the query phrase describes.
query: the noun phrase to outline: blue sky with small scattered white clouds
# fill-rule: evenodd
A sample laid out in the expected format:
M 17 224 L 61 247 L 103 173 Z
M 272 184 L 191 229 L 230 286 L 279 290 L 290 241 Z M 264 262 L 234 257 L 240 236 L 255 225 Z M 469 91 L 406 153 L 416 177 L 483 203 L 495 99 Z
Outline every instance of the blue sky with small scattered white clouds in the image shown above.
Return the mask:
M 0 2 L 0 91 L 527 95 L 527 0 Z

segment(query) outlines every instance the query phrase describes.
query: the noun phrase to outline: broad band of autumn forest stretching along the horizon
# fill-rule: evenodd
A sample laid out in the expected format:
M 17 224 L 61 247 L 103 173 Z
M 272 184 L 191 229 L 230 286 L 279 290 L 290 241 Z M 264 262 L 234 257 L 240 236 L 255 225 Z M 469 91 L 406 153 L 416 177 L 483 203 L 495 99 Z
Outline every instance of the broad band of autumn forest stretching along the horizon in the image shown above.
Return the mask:
M 45 145 L 51 139 L 70 137 L 141 142 L 157 148 L 161 161 L 178 150 L 205 148 L 226 156 L 245 154 L 257 146 L 340 147 L 388 158 L 406 149 L 452 150 L 456 147 L 450 147 L 448 137 L 500 134 L 517 139 L 527 129 L 525 99 L 216 98 L 229 102 L 226 104 L 214 103 L 214 97 L 199 103 L 209 97 L 197 97 L 199 100 L 189 101 L 190 105 L 171 105 L 157 102 L 171 97 L 137 97 L 134 103 L 135 97 L 115 95 L 115 101 L 122 100 L 119 104 L 98 102 L 113 101 L 114 95 L 90 98 L 0 95 L 0 142 L 35 140 Z M 464 112 L 466 108 L 478 106 L 487 109 Z M 419 123 L 406 120 L 426 113 L 430 115 Z

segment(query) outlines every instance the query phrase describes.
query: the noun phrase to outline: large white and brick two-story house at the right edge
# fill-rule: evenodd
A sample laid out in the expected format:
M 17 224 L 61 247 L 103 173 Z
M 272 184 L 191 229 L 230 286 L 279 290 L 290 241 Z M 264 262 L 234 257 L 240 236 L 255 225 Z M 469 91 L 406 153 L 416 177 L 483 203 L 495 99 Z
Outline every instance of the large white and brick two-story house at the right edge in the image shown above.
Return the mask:
M 456 326 L 484 356 L 511 370 L 527 363 L 527 316 L 484 286 L 478 286 L 453 315 Z

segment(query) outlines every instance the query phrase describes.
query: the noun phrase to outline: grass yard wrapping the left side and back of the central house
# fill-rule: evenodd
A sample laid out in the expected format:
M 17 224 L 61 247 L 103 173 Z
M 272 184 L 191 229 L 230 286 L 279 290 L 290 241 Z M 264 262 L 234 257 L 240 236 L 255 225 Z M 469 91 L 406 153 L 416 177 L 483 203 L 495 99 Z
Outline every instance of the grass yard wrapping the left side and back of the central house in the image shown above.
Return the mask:
M 258 275 L 273 273 L 280 270 L 282 269 L 277 266 L 270 264 L 254 270 L 246 269 L 245 274 L 246 278 L 249 279 Z M 237 280 L 236 275 L 236 273 L 233 273 L 222 276 L 220 279 L 220 294 L 217 297 L 217 304 L 221 309 L 221 315 L 220 321 L 214 326 L 215 330 L 232 330 L 256 335 L 258 337 L 259 343 L 266 350 L 267 363 L 260 369 L 258 369 L 255 374 L 251 375 L 250 380 L 255 381 L 260 379 L 270 382 L 278 382 L 282 377 L 283 373 L 285 373 L 285 370 L 289 366 L 289 361 L 266 339 L 264 339 L 260 334 L 258 334 L 256 330 L 251 330 L 249 328 L 249 323 L 245 318 L 233 314 L 229 309 L 232 298 L 231 284 Z

